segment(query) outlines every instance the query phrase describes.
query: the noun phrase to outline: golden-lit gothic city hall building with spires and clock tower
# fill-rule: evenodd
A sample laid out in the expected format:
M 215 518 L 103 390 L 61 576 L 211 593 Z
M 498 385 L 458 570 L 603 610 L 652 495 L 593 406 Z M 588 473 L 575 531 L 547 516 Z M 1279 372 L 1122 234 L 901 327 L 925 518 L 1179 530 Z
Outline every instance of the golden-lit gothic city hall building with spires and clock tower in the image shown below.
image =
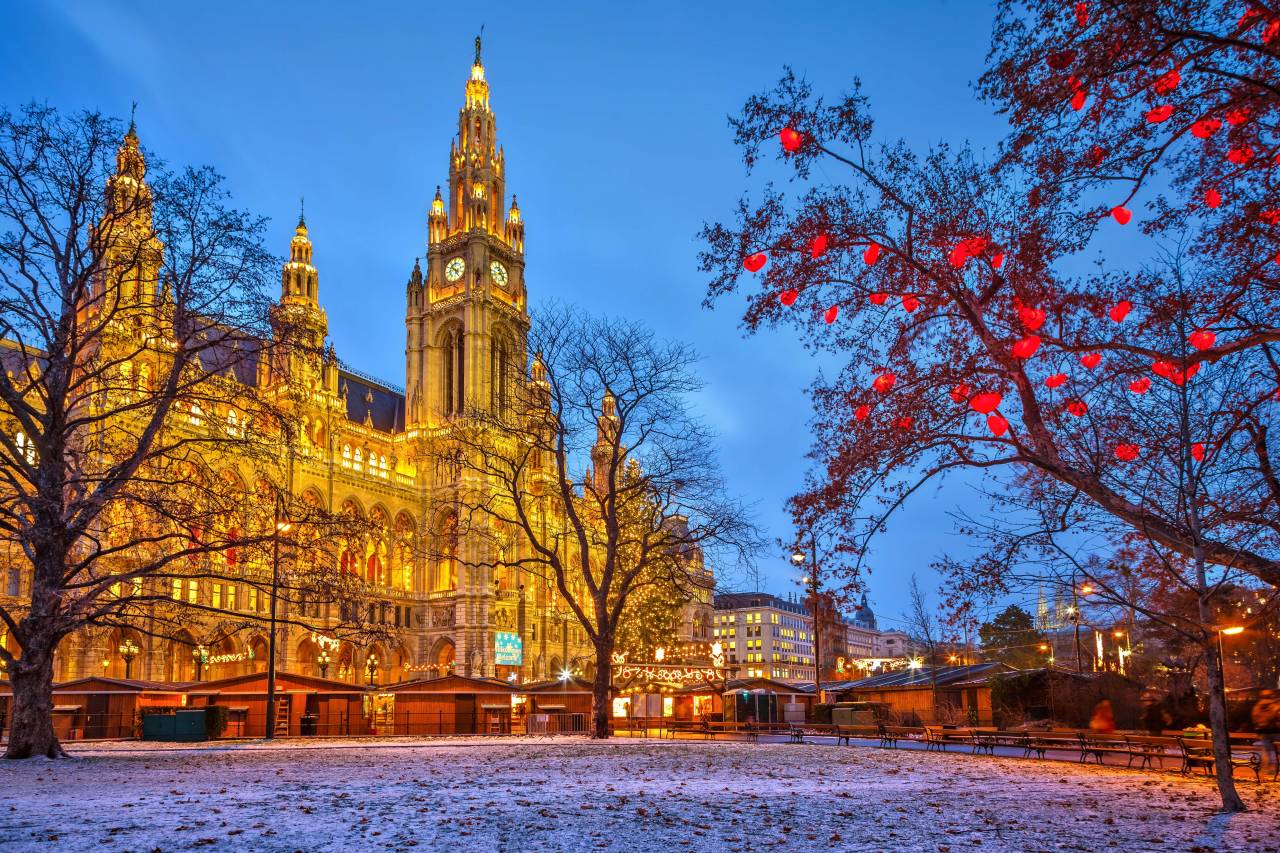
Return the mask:
M 113 181 L 147 191 L 132 127 Z M 284 384 L 302 389 L 294 412 L 300 435 L 285 462 L 291 497 L 360 519 L 367 532 L 358 544 L 325 552 L 344 574 L 358 576 L 358 605 L 342 596 L 280 602 L 278 669 L 357 684 L 448 674 L 532 681 L 566 670 L 589 672 L 586 635 L 554 581 L 504 564 L 492 540 L 460 524 L 456 489 L 465 474 L 433 461 L 440 456 L 428 450 L 453 419 L 503 405 L 511 383 L 530 382 L 525 224 L 515 195 L 508 204 L 479 40 L 449 149 L 448 187 L 438 187 L 430 202 L 425 259 L 413 261 L 404 291 L 403 388 L 348 366 L 328 345 L 321 275 L 305 218 L 280 282 L 273 323 L 287 316 L 316 346 L 284 362 L 236 371 L 234 379 L 266 393 Z M 233 407 L 212 402 L 204 409 L 192 409 L 192 423 L 198 414 L 234 426 Z M 252 501 L 253 464 L 209 462 L 215 466 Z M 10 601 L 29 583 L 20 565 L 10 564 L 0 589 Z M 55 680 L 192 681 L 264 670 L 268 587 L 223 574 L 172 579 L 172 597 L 196 606 L 177 630 L 148 630 L 142 613 L 137 630 L 116 625 L 68 635 Z M 356 621 L 376 630 L 344 631 L 352 606 L 360 608 Z

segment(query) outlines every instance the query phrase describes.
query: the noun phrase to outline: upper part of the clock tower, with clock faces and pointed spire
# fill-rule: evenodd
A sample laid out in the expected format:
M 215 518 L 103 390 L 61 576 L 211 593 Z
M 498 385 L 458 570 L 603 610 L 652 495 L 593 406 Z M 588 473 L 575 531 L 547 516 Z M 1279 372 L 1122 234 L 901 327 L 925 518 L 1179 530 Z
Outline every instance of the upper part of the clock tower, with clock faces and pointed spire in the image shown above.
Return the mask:
M 524 378 L 529 332 L 525 224 L 512 196 L 489 83 L 475 61 L 449 149 L 448 197 L 435 190 L 425 269 L 406 295 L 407 426 L 426 428 L 504 405 Z

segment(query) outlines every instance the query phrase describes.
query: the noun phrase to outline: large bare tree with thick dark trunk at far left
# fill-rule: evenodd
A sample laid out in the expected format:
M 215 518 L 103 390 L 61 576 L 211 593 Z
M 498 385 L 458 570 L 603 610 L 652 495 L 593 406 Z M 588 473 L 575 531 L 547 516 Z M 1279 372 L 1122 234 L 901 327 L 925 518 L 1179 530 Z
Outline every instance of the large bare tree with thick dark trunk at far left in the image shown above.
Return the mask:
M 289 336 L 268 325 L 264 222 L 228 201 L 207 168 L 148 178 L 132 126 L 0 111 L 0 537 L 28 579 L 0 606 L 9 758 L 63 754 L 73 631 L 172 634 L 219 611 L 195 594 L 210 578 L 353 594 L 328 516 L 288 497 L 288 394 L 260 386 Z M 273 573 L 285 529 L 312 551 Z

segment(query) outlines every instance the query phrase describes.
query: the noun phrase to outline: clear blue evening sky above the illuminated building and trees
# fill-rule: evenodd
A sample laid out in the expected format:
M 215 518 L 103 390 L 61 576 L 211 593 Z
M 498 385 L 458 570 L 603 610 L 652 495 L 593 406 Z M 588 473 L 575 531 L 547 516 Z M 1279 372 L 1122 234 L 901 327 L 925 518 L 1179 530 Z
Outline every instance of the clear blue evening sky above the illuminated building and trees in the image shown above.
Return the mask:
M 128 117 L 174 164 L 212 164 L 238 204 L 270 215 L 287 252 L 306 196 L 321 302 L 339 356 L 403 382 L 403 293 L 447 177 L 472 38 L 508 192 L 527 223 L 527 280 L 639 318 L 705 355 L 700 406 L 732 488 L 771 538 L 806 465 L 803 393 L 817 364 L 791 332 L 744 338 L 741 300 L 699 306 L 695 234 L 748 186 L 726 126 L 791 64 L 832 95 L 861 77 L 877 131 L 916 147 L 1002 123 L 972 95 L 992 12 L 977 0 L 788 3 L 37 3 L 0 4 L 0 104 L 45 100 Z M 759 187 L 762 175 L 750 179 Z M 878 544 L 870 598 L 908 605 L 913 573 L 964 548 L 947 512 L 963 484 L 919 494 Z M 796 589 L 781 557 L 764 589 Z M 739 579 L 739 584 L 753 581 Z

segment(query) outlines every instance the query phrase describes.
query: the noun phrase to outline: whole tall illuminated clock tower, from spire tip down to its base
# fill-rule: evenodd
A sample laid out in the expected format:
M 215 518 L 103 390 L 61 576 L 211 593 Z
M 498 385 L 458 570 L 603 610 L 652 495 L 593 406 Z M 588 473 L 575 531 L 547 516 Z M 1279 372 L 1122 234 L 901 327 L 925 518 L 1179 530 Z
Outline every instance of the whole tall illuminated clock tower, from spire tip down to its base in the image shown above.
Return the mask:
M 417 432 L 422 459 L 434 460 L 420 467 L 428 487 L 424 517 L 440 546 L 435 560 L 456 565 L 456 587 L 433 590 L 440 605 L 430 608 L 426 642 L 447 637 L 463 675 L 495 671 L 494 631 L 502 621 L 495 580 L 506 570 L 485 537 L 468 532 L 458 517 L 460 498 L 475 500 L 489 485 L 443 464 L 447 448 L 435 442 L 447 434 L 442 428 L 448 421 L 508 405 L 516 383 L 525 382 L 529 336 L 525 224 L 515 197 L 507 206 L 506 160 L 484 70 L 476 38 L 458 134 L 449 149 L 448 192 L 436 187 L 426 263 L 413 264 L 404 311 L 406 428 Z M 457 537 L 452 543 L 451 535 Z

